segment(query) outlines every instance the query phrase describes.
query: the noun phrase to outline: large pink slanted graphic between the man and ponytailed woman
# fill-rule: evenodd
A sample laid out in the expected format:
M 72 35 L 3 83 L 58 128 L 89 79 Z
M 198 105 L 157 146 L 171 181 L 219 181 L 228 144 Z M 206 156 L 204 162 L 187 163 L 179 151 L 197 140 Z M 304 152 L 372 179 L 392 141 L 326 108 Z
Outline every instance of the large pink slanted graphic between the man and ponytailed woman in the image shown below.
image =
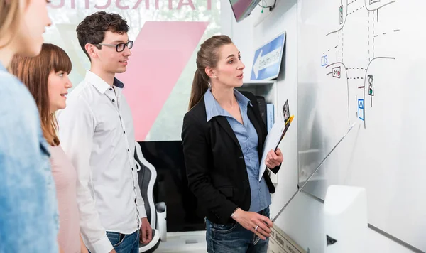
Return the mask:
M 131 50 L 124 82 L 136 141 L 143 141 L 209 22 L 147 21 Z M 194 64 L 195 63 L 191 63 Z

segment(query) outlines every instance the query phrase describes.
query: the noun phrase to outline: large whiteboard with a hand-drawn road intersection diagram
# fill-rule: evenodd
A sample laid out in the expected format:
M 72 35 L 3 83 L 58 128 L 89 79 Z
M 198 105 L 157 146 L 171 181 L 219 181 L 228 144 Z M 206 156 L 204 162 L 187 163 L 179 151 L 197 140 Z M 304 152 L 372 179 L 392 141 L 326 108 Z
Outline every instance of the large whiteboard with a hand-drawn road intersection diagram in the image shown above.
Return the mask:
M 425 0 L 299 0 L 299 183 L 366 188 L 368 222 L 426 252 Z

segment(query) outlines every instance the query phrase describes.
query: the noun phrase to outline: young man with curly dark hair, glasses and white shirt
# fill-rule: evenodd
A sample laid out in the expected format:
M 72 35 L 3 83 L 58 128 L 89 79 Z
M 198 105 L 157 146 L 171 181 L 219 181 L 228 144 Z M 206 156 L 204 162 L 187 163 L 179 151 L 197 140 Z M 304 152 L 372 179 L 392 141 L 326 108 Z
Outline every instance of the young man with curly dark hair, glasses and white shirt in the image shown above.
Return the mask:
M 77 168 L 80 231 L 92 253 L 137 253 L 151 241 L 138 185 L 129 104 L 115 78 L 126 71 L 133 41 L 118 14 L 97 12 L 77 26 L 91 68 L 58 114 L 59 139 Z

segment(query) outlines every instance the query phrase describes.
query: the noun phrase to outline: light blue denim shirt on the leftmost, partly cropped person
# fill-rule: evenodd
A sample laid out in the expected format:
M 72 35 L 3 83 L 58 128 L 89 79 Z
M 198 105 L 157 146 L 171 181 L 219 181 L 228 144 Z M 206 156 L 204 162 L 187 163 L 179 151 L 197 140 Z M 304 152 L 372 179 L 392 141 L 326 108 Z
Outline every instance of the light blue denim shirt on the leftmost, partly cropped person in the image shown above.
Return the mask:
M 58 252 L 49 146 L 28 89 L 0 63 L 0 252 Z

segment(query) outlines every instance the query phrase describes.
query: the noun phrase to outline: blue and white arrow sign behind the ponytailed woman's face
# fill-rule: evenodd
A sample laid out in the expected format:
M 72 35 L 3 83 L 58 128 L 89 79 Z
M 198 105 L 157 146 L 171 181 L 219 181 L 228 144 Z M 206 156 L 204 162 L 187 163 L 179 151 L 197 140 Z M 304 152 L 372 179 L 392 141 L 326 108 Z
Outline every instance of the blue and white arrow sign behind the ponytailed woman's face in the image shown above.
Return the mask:
M 263 45 L 254 53 L 250 80 L 271 80 L 280 73 L 285 43 L 285 32 Z

